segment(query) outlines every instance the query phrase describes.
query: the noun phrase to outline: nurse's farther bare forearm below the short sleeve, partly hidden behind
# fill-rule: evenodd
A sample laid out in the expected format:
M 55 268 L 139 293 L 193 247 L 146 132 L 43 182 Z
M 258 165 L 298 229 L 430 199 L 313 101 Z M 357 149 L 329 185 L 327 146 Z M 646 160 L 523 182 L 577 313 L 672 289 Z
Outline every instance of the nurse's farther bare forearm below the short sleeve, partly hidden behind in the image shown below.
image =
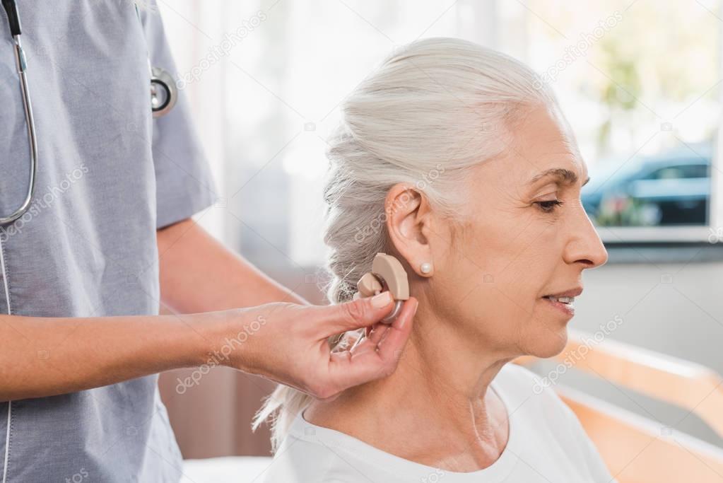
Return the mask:
M 253 307 L 268 302 L 308 304 L 191 220 L 158 231 L 161 299 L 175 312 Z

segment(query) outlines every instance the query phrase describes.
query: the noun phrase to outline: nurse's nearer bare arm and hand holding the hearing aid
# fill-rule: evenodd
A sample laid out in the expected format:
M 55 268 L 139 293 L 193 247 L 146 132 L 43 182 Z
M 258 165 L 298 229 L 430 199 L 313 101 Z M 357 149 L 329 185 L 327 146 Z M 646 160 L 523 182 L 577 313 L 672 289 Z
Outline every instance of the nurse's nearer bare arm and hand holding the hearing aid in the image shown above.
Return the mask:
M 225 365 L 318 398 L 389 375 L 411 333 L 416 300 L 354 349 L 327 338 L 369 327 L 393 308 L 388 292 L 316 307 L 275 302 L 192 315 L 0 315 L 0 401 L 55 396 L 180 367 Z

